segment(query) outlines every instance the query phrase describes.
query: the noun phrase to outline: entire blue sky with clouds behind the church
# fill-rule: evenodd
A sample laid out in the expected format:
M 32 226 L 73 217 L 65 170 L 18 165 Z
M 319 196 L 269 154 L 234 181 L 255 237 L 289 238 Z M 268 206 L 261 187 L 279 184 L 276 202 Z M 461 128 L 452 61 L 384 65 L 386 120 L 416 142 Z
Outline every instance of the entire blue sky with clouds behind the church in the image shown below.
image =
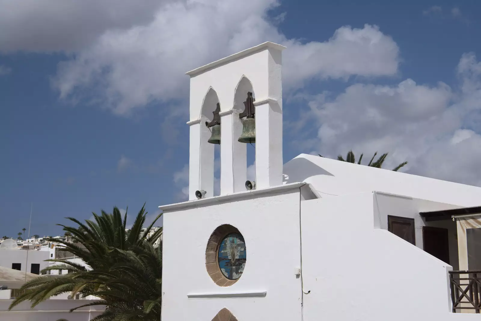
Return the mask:
M 184 72 L 267 40 L 288 47 L 284 161 L 379 150 L 481 186 L 479 1 L 55 2 L 0 0 L 0 235 L 31 203 L 56 235 L 182 200 Z

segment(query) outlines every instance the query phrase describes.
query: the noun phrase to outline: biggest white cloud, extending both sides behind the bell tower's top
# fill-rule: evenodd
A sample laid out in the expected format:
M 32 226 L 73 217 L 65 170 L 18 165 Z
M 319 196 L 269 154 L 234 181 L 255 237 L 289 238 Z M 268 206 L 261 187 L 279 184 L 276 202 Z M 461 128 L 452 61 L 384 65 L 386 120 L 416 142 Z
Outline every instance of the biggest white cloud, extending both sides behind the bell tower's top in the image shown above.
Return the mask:
M 106 30 L 61 63 L 53 85 L 62 99 L 88 88 L 115 113 L 128 114 L 154 100 L 186 99 L 186 71 L 267 40 L 288 46 L 285 89 L 311 78 L 397 73 L 399 49 L 377 26 L 345 26 L 326 42 L 303 44 L 287 39 L 277 20 L 267 17 L 277 5 L 276 0 L 164 3 L 152 21 Z

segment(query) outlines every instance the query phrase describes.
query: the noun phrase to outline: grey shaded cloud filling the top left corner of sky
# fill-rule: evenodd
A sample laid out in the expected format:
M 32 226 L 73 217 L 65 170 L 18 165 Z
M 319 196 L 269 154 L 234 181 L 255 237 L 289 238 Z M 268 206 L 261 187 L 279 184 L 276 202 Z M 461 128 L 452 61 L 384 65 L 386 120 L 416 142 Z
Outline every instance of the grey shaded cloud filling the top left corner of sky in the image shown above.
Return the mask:
M 0 51 L 75 51 L 108 29 L 153 19 L 166 1 L 0 0 Z

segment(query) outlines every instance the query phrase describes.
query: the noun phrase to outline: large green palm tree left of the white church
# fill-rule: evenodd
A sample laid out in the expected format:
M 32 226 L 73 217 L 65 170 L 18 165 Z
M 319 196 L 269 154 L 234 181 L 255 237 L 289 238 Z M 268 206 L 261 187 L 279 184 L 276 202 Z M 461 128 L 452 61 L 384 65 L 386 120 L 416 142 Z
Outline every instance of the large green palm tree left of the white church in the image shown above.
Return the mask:
M 70 293 L 82 297 L 95 296 L 98 300 L 74 308 L 104 305 L 105 311 L 91 321 L 153 321 L 161 316 L 162 244 L 156 241 L 162 234 L 159 229 L 148 237 L 148 232 L 161 216 L 142 232 L 147 212 L 144 207 L 137 214 L 132 228 L 126 233 L 127 213 L 122 216 L 115 207 L 112 214 L 102 210 L 94 215 L 94 222 L 79 222 L 67 218 L 78 227 L 63 226 L 72 235 L 70 242 L 49 239 L 60 243 L 63 251 L 73 253 L 89 267 L 68 259 L 48 259 L 57 262 L 43 271 L 68 270 L 56 278 L 41 276 L 29 281 L 20 289 L 12 302 L 12 309 L 23 301 L 32 308 L 51 296 Z

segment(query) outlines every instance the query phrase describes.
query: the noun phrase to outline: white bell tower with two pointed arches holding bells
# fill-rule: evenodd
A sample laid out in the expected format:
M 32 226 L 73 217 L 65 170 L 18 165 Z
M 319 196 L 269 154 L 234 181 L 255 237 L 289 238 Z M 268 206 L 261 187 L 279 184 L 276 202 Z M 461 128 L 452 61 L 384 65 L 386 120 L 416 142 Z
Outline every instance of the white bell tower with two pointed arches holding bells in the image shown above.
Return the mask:
M 282 82 L 281 52 L 286 47 L 265 42 L 194 69 L 190 76 L 189 200 L 195 191 L 214 196 L 214 145 L 205 122 L 220 103 L 220 195 L 245 191 L 246 144 L 242 133 L 243 102 L 255 98 L 256 188 L 282 185 Z M 244 118 L 245 119 L 245 118 Z

